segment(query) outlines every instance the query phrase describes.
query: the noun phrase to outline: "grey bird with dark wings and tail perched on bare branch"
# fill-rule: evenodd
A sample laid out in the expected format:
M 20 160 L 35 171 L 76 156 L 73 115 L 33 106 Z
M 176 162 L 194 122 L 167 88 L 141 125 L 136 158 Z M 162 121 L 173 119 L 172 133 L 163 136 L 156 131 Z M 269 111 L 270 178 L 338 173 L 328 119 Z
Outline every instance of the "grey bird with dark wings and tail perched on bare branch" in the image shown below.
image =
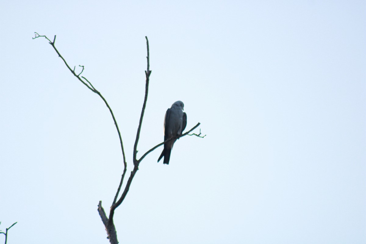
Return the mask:
M 168 108 L 164 118 L 164 141 L 182 135 L 187 125 L 187 114 L 183 112 L 184 104 L 182 101 L 176 101 L 171 108 Z M 164 144 L 164 149 L 158 159 L 158 162 L 164 156 L 164 164 L 169 164 L 170 153 L 173 144 L 177 139 Z

